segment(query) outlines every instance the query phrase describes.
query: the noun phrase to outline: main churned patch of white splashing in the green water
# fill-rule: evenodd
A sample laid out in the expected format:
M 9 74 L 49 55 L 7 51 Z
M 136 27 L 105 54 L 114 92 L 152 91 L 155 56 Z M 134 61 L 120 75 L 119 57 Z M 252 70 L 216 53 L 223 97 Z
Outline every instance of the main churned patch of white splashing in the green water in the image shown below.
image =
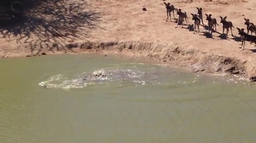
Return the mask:
M 107 74 L 102 74 L 107 73 Z M 131 69 L 103 69 L 97 70 L 91 73 L 80 73 L 77 74 L 73 79 L 68 79 L 62 74 L 57 74 L 49 77 L 49 79 L 40 82 L 38 85 L 46 88 L 62 88 L 62 89 L 73 89 L 73 88 L 86 88 L 88 86 L 102 85 L 109 83 L 122 84 L 125 81 L 134 83 L 137 85 L 147 85 L 154 83 L 158 76 L 155 74 L 146 73 L 140 70 Z

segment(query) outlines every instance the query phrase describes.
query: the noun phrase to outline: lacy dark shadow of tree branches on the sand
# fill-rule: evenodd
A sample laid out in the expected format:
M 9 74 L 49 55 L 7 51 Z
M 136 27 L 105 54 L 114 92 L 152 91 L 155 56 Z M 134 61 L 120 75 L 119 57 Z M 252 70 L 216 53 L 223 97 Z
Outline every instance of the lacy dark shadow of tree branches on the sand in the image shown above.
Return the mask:
M 61 50 L 66 48 L 65 40 L 88 38 L 99 21 L 100 13 L 89 10 L 86 1 L 34 0 L 19 18 L 0 21 L 0 35 L 7 41 L 29 43 L 31 51 L 53 46 Z

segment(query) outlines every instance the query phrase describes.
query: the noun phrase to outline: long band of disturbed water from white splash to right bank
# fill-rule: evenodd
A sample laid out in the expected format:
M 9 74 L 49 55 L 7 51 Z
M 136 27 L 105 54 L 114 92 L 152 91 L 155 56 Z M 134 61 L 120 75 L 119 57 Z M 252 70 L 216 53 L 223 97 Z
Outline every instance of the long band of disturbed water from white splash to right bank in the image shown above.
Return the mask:
M 138 66 L 139 65 L 139 66 Z M 38 85 L 46 88 L 78 89 L 96 85 L 198 85 L 210 82 L 216 85 L 222 83 L 248 84 L 245 78 L 225 73 L 213 74 L 211 77 L 202 74 L 184 73 L 170 70 L 164 65 L 150 65 L 144 63 L 122 63 L 104 67 L 90 73 L 79 73 L 73 77 L 65 77 L 64 74 L 50 76 Z M 210 80 L 209 80 L 210 79 Z

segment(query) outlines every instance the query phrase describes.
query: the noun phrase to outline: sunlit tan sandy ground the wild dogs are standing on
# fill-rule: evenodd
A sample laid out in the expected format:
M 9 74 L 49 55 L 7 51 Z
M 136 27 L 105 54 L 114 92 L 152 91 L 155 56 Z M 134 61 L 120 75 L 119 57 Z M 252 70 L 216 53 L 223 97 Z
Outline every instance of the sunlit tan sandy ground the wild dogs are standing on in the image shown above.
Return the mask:
M 89 8 L 101 13 L 101 21 L 97 22 L 97 26 L 95 27 L 95 29 L 91 30 L 87 38 L 77 39 L 74 41 L 66 40 L 64 42 L 153 42 L 159 45 L 164 45 L 158 46 L 158 48 L 168 48 L 170 46 L 182 48 L 182 50 L 185 51 L 192 49 L 194 51 L 200 51 L 201 53 L 207 53 L 207 56 L 210 56 L 210 54 L 212 54 L 218 55 L 219 57 L 228 57 L 234 59 L 234 63 L 236 63 L 236 68 L 242 69 L 240 73 L 245 74 L 247 77 L 256 77 L 256 48 L 254 47 L 254 45 L 250 45 L 249 42 L 247 42 L 245 45 L 245 50 L 243 51 L 242 49 L 240 49 L 239 46 L 241 42 L 236 29 L 236 27 L 246 29 L 243 20 L 244 17 L 249 18 L 251 22 L 256 23 L 256 19 L 254 19 L 253 15 L 254 13 L 252 12 L 256 9 L 256 1 L 165 1 L 170 2 L 176 8 L 181 8 L 182 11 L 186 11 L 186 13 L 188 14 L 189 26 L 184 26 L 183 29 L 180 26 L 174 28 L 176 23 L 174 23 L 173 19 L 173 22 L 165 21 L 167 15 L 163 2 L 164 1 L 161 0 L 89 0 Z M 143 7 L 145 7 L 147 11 L 142 11 Z M 218 32 L 213 33 L 213 38 L 207 38 L 207 30 L 204 29 L 204 27 L 202 26 L 200 27 L 200 35 L 193 34 L 191 29 L 191 13 L 197 13 L 196 7 L 203 8 L 203 13 L 212 14 L 212 17 L 217 19 L 217 23 L 220 26 L 217 26 Z M 172 14 L 171 16 L 173 18 Z M 233 29 L 234 37 L 231 36 L 231 33 L 229 33 L 228 39 L 225 39 L 224 36 L 220 35 L 220 33 L 222 33 L 222 24 L 219 23 L 219 16 L 227 16 L 227 20 L 233 22 L 235 27 Z M 176 14 L 175 17 L 177 18 Z M 203 18 L 204 24 L 207 24 L 205 16 Z M 8 40 L 11 39 L 15 38 L 9 38 Z M 15 40 L 7 41 L 6 38 L 0 39 L 0 42 L 1 57 L 16 57 L 31 54 L 31 48 L 29 48 L 28 43 L 17 43 Z M 40 50 L 49 54 L 53 54 L 53 51 L 49 51 L 44 48 Z M 38 49 L 35 51 L 38 51 Z M 33 51 L 33 53 L 35 53 L 35 51 Z M 67 52 L 67 50 L 65 51 Z M 80 48 L 74 51 L 79 52 L 85 50 Z M 55 51 L 54 53 L 62 52 L 63 50 L 58 52 Z M 149 51 L 144 50 L 144 52 Z M 145 55 L 136 54 L 134 51 L 127 52 L 126 54 L 133 54 L 136 56 Z M 162 52 L 160 54 L 164 53 Z M 201 54 L 194 54 L 192 56 L 197 56 L 197 58 L 199 59 Z M 209 59 L 204 58 L 204 60 Z M 195 60 L 191 60 L 191 62 L 195 62 Z M 215 61 L 213 61 L 213 63 L 214 62 Z M 230 61 L 230 63 L 232 62 Z

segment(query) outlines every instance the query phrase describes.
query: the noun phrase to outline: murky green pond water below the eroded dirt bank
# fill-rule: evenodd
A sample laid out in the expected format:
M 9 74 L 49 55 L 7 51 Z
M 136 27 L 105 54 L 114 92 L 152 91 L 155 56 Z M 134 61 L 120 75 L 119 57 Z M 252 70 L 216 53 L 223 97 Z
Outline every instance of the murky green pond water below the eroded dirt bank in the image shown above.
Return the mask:
M 239 77 L 97 55 L 0 67 L 0 142 L 256 142 L 256 85 Z

